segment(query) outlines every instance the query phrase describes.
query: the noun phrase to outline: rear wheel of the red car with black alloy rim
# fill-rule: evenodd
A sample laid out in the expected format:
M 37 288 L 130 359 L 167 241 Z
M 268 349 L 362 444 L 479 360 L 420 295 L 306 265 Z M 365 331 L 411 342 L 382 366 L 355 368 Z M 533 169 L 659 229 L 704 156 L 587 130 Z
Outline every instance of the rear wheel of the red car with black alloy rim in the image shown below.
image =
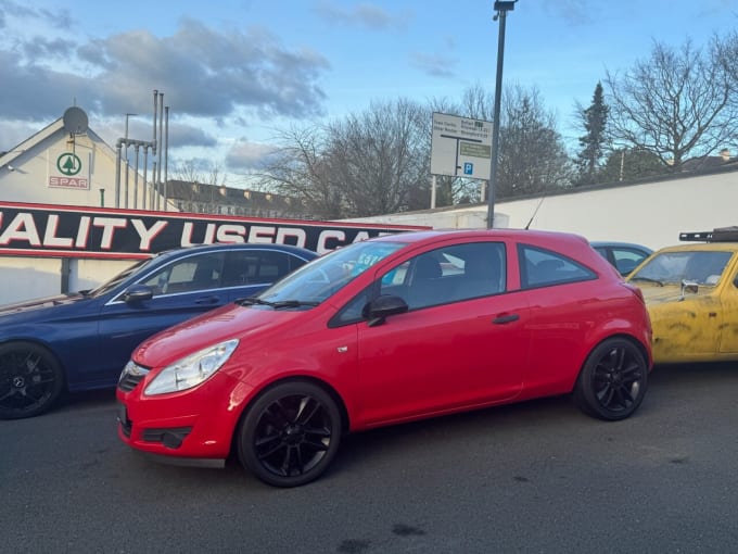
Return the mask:
M 574 401 L 583 412 L 601 419 L 624 419 L 644 400 L 648 364 L 627 339 L 608 339 L 587 357 L 574 387 Z

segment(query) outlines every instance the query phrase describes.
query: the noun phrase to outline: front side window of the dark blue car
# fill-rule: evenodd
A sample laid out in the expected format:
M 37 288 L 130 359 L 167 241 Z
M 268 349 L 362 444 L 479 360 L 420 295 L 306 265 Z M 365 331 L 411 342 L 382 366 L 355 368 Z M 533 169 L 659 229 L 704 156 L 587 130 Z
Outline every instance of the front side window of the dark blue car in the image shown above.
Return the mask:
M 142 281 L 154 290 L 154 297 L 177 294 L 220 287 L 224 254 L 209 253 L 184 257 L 162 267 Z

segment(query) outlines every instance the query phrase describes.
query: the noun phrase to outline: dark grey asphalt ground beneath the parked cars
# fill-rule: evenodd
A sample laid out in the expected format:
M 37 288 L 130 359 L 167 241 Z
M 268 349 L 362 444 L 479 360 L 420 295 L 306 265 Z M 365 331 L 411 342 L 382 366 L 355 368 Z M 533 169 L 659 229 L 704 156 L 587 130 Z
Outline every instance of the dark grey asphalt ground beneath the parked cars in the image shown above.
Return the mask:
M 0 421 L 3 553 L 733 553 L 738 364 L 662 366 L 629 419 L 567 396 L 348 437 L 273 489 L 154 463 L 112 391 Z

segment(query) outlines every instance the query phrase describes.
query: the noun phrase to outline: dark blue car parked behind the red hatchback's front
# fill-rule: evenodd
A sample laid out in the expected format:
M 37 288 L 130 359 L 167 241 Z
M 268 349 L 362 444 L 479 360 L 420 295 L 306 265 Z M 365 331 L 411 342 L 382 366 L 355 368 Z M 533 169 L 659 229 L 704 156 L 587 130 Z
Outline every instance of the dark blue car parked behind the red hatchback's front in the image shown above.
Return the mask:
M 282 244 L 191 247 L 93 290 L 0 306 L 0 419 L 41 414 L 66 391 L 114 388 L 143 339 L 251 297 L 317 256 Z

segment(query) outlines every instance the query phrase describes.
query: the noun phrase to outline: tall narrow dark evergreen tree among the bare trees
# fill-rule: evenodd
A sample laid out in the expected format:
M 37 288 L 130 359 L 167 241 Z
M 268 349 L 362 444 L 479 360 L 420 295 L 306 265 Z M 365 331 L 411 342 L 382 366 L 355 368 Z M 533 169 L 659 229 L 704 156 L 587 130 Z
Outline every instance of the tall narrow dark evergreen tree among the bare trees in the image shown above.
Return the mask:
M 597 172 L 600 167 L 607 142 L 606 134 L 609 111 L 605 103 L 602 84 L 597 83 L 591 104 L 586 110 L 581 110 L 580 112 L 585 135 L 580 137 L 582 150 L 576 158 L 576 166 L 578 168 L 576 185 L 590 185 L 597 180 Z

